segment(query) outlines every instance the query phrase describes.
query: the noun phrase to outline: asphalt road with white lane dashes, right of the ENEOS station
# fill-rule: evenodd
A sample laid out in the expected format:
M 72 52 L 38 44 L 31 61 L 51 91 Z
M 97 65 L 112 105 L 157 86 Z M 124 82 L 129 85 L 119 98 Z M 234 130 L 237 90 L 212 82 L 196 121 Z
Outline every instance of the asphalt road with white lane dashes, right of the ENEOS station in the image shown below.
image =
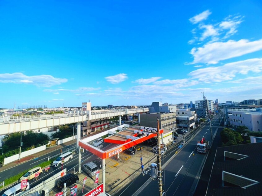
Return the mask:
M 216 132 L 218 117 L 212 119 L 212 134 Z M 211 141 L 209 123 L 202 127 L 191 141 L 181 148 L 180 152 L 163 169 L 163 186 L 165 195 L 193 195 L 199 173 L 203 167 L 206 154 L 197 153 L 196 144 L 203 136 Z M 168 152 L 167 152 L 168 153 Z M 173 152 L 172 154 L 174 154 Z M 164 156 L 164 162 L 168 157 Z M 163 164 L 163 163 L 162 163 Z M 179 172 L 179 173 L 178 173 Z M 140 188 L 139 188 L 140 187 Z M 116 196 L 120 195 L 159 195 L 158 181 L 151 180 L 148 175 L 140 175 L 131 184 L 125 186 Z

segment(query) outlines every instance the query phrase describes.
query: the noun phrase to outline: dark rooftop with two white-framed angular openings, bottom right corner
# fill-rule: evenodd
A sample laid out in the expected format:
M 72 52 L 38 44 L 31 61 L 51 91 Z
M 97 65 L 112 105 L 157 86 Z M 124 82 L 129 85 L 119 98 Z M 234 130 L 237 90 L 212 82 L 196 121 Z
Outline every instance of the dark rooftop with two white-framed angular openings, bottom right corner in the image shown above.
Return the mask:
M 260 195 L 262 192 L 262 143 L 219 147 L 207 195 Z

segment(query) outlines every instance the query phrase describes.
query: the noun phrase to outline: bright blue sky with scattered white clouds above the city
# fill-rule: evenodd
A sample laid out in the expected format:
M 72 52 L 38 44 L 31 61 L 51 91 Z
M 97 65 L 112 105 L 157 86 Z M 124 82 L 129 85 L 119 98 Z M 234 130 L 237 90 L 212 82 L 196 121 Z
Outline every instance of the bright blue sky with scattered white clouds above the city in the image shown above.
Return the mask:
M 261 1 L 0 2 L 0 108 L 262 98 Z

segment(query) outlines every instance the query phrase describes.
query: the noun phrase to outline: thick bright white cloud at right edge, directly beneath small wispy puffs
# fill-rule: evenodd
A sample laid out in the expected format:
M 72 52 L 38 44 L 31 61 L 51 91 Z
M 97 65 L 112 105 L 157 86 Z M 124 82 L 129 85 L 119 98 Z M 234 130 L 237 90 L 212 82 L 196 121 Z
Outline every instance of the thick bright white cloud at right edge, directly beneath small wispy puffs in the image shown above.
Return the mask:
M 239 57 L 262 49 L 262 39 L 249 41 L 228 40 L 227 42 L 207 43 L 203 47 L 191 49 L 194 61 L 189 64 L 207 63 L 216 64 L 221 60 Z

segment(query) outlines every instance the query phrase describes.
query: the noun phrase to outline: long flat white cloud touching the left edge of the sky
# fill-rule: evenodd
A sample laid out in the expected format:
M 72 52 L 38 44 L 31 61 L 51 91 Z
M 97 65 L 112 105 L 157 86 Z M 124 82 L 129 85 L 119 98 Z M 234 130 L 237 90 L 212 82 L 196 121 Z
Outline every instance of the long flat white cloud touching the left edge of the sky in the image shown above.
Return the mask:
M 64 78 L 55 78 L 51 75 L 34 75 L 27 76 L 22 73 L 12 73 L 12 74 L 0 74 L 1 83 L 26 83 L 33 84 L 39 87 L 50 87 L 54 85 L 59 85 L 61 83 L 67 82 L 67 79 Z

